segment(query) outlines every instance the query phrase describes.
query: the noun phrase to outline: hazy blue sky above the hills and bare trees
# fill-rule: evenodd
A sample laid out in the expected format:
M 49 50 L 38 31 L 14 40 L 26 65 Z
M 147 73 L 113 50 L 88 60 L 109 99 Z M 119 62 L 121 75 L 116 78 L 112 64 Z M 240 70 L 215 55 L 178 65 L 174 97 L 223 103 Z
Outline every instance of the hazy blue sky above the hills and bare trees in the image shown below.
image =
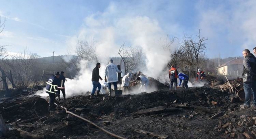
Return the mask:
M 0 0 L 9 54 L 25 48 L 41 57 L 74 53 L 76 42 L 96 42 L 99 55 L 118 56 L 123 43 L 156 51 L 161 38 L 207 38 L 206 56 L 241 56 L 256 46 L 255 0 Z M 162 39 L 163 40 L 163 39 Z M 172 47 L 176 48 L 178 43 Z M 164 58 L 163 54 L 160 58 Z M 148 57 L 149 58 L 149 57 Z M 154 61 L 154 59 L 149 59 Z M 154 62 L 153 62 L 154 63 Z M 153 66 L 153 65 L 152 65 Z

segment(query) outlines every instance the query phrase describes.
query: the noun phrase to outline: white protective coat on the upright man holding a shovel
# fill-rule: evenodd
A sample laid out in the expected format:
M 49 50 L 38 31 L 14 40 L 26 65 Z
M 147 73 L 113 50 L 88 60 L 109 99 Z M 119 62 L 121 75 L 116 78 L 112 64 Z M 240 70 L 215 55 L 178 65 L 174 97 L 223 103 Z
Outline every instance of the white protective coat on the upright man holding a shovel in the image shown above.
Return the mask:
M 117 72 L 121 73 L 118 70 L 117 65 L 110 63 L 105 68 L 105 77 L 107 77 L 108 83 L 113 83 L 118 81 Z

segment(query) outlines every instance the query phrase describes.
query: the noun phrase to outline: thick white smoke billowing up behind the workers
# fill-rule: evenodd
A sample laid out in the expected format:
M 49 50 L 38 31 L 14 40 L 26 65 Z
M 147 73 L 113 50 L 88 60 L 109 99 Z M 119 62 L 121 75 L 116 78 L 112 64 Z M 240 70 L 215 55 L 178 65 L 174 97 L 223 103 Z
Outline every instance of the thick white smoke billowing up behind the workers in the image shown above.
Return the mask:
M 112 3 L 103 13 L 95 13 L 84 19 L 77 35 L 67 40 L 67 46 L 77 45 L 77 39 L 91 41 L 95 47 L 98 62 L 101 63 L 100 76 L 104 78 L 105 66 L 110 57 L 118 57 L 118 50 L 125 42 L 132 47 L 140 46 L 145 54 L 146 68 L 141 71 L 148 77 L 168 80 L 167 63 L 170 61 L 170 51 L 166 46 L 167 32 L 159 25 L 158 20 L 148 16 L 131 16 L 129 12 L 119 15 L 118 6 Z M 116 15 L 119 16 L 116 16 Z M 113 20 L 110 20 L 114 18 Z M 167 39 L 161 39 L 167 38 Z M 171 46 L 172 47 L 172 46 Z M 68 59 L 68 58 L 67 58 Z M 92 70 L 96 66 L 85 60 L 80 61 L 80 71 L 73 79 L 67 79 L 65 90 L 67 97 L 88 94 L 92 90 Z M 103 83 L 104 81 L 100 81 Z M 156 89 L 148 90 L 155 91 Z M 135 90 L 135 93 L 141 91 Z

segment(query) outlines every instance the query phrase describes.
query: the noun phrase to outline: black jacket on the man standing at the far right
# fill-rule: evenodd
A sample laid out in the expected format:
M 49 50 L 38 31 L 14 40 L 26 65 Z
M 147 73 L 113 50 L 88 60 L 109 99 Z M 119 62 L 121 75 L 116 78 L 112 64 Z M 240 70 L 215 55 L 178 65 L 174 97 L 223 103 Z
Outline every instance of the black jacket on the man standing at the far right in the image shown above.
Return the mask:
M 245 74 L 250 74 L 253 76 L 253 79 L 256 79 L 256 58 L 253 54 L 248 54 L 245 56 L 244 60 L 243 60 L 243 76 Z

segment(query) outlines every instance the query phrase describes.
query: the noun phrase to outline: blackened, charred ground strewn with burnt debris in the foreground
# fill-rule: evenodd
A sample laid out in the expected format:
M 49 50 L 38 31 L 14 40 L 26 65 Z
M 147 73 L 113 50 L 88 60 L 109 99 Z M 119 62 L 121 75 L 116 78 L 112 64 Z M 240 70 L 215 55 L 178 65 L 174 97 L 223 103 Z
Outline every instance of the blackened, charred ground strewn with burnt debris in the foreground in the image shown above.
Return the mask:
M 247 124 L 252 122 L 255 109 L 240 109 L 243 103 L 231 103 L 232 95 L 211 87 L 169 91 L 168 86 L 162 85 L 152 93 L 100 95 L 92 100 L 88 96 L 74 96 L 56 103 L 127 139 L 158 138 L 138 133 L 138 130 L 166 135 L 169 139 L 223 139 L 238 138 L 238 135 L 247 138 L 241 134 L 252 134 L 256 128 L 254 124 Z M 24 101 L 24 104 L 14 106 Z M 33 138 L 44 139 L 114 139 L 93 125 L 65 113 L 60 107 L 50 113 L 47 109 L 47 100 L 37 96 L 24 94 L 2 98 L 0 114 L 9 132 L 1 139 L 22 139 L 22 131 L 35 135 Z M 212 117 L 218 113 L 219 116 Z M 32 120 L 24 121 L 28 119 Z

